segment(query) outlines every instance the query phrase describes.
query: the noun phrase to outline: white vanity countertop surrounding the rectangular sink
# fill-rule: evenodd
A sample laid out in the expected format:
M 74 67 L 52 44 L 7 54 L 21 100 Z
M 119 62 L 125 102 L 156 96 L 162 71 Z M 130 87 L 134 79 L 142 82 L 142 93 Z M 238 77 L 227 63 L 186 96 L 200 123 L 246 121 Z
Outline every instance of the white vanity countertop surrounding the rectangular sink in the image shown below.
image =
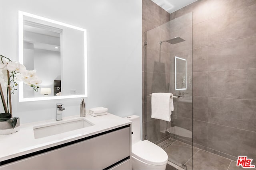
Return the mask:
M 58 122 L 77 118 L 80 118 L 80 115 L 64 117 L 63 120 Z M 0 160 L 8 160 L 10 158 L 15 158 L 17 156 L 22 156 L 38 150 L 47 149 L 70 141 L 96 135 L 98 133 L 116 129 L 132 123 L 132 121 L 129 121 L 128 119 L 124 119 L 110 113 L 96 117 L 86 114 L 86 117 L 84 118 L 94 125 L 39 139 L 34 139 L 33 127 L 49 123 L 56 123 L 57 121 L 55 119 L 22 124 L 20 125 L 20 131 L 10 135 L 0 136 Z

